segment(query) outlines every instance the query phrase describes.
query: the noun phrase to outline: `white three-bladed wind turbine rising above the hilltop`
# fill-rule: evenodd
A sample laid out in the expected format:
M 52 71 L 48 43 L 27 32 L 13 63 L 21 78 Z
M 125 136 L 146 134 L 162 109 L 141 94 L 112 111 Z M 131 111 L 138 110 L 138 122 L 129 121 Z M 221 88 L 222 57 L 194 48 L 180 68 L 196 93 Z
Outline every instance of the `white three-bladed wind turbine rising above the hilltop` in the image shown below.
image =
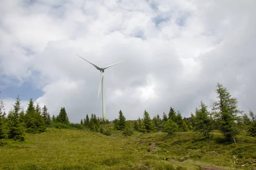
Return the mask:
M 77 55 L 77 54 L 76 54 Z M 80 57 L 81 59 L 84 59 L 83 57 L 81 57 L 81 56 L 79 56 L 79 55 L 77 55 L 78 57 Z M 86 59 L 84 59 L 85 61 L 87 61 Z M 123 60 L 124 61 L 124 60 Z M 123 61 L 120 61 L 120 62 L 123 62 Z M 89 62 L 89 61 L 87 61 L 87 62 Z M 100 81 L 99 81 L 99 91 L 100 91 L 100 88 L 102 88 L 102 118 L 103 118 L 103 120 L 106 120 L 106 110 L 105 110 L 105 98 L 104 98 L 104 83 L 103 83 L 103 75 L 104 75 L 104 70 L 106 69 L 106 68 L 109 68 L 109 67 L 111 67 L 111 66 L 113 66 L 113 65 L 116 65 L 116 64 L 118 64 L 118 63 L 120 63 L 120 62 L 116 62 L 116 63 L 114 63 L 114 64 L 111 64 L 111 65 L 109 65 L 109 66 L 107 66 L 107 67 L 104 67 L 104 68 L 100 68 L 99 66 L 97 66 L 97 65 L 95 65 L 95 64 L 93 64 L 93 63 L 91 63 L 91 62 L 89 62 L 91 65 L 93 65 L 97 70 L 99 70 L 100 71 Z M 98 91 L 98 98 L 99 98 L 99 91 Z

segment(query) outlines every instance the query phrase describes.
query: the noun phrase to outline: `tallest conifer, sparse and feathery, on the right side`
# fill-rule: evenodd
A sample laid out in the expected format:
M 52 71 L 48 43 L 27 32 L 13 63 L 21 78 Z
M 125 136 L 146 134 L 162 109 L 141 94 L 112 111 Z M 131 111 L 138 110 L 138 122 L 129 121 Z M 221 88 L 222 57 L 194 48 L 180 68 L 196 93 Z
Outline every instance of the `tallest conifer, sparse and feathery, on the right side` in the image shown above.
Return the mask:
M 230 141 L 239 134 L 236 121 L 238 120 L 237 114 L 242 113 L 242 111 L 239 111 L 237 99 L 231 98 L 227 88 L 220 83 L 216 87 L 215 92 L 218 94 L 218 102 L 213 103 L 212 110 L 214 111 L 219 130 L 225 139 Z

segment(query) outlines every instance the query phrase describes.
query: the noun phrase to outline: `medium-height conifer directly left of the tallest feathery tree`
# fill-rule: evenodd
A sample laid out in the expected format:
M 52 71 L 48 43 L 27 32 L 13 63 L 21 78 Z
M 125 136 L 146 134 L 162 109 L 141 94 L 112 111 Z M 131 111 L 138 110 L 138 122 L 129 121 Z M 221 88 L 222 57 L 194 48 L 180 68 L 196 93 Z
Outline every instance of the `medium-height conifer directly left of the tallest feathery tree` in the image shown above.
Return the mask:
M 212 130 L 212 122 L 207 111 L 207 105 L 201 101 L 201 109 L 195 109 L 195 116 L 193 117 L 195 122 L 194 130 L 201 133 L 205 138 L 209 138 L 209 134 Z

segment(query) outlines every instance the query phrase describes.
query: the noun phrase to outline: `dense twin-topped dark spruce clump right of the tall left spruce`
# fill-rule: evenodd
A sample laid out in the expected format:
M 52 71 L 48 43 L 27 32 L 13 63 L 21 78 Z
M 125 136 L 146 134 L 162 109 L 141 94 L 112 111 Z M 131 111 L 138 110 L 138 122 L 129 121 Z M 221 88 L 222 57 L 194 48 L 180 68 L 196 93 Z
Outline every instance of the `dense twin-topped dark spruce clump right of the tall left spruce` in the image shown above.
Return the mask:
M 37 109 L 35 110 L 33 99 L 29 100 L 26 114 L 24 116 L 27 128 L 26 132 L 28 133 L 38 133 L 46 130 L 44 117 L 41 116 L 41 110 L 39 108 L 39 104 L 37 104 Z

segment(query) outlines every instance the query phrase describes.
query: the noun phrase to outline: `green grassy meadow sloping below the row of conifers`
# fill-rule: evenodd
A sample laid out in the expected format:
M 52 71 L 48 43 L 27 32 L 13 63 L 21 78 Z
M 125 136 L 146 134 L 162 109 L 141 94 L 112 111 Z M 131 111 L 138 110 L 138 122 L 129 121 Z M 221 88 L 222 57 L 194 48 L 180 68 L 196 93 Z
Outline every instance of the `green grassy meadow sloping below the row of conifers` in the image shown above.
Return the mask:
M 253 169 L 256 138 L 241 135 L 236 142 L 225 143 L 218 132 L 204 140 L 193 132 L 174 136 L 135 132 L 125 137 L 121 131 L 105 136 L 48 128 L 44 133 L 26 134 L 26 142 L 0 147 L 0 169 Z

